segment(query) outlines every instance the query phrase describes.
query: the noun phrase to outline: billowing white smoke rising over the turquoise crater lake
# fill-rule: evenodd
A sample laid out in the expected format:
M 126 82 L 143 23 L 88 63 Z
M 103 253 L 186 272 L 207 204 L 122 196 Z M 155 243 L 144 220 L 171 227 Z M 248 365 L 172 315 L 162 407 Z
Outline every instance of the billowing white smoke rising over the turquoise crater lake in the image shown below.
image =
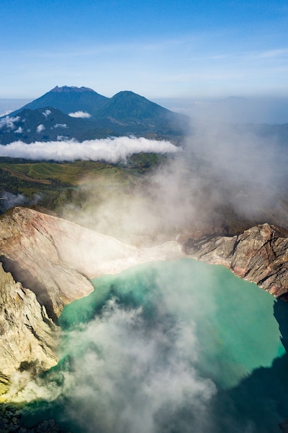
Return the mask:
M 53 371 L 44 381 L 17 372 L 10 398 L 49 402 L 65 396 L 64 417 L 87 433 L 156 433 L 175 420 L 188 433 L 191 425 L 179 421 L 183 407 L 192 414 L 194 432 L 207 427 L 207 405 L 217 390 L 195 368 L 191 323 L 170 323 L 160 312 L 151 326 L 142 307 L 122 308 L 113 298 L 102 315 L 66 335 L 64 350 L 73 367 L 63 372 L 62 385 Z

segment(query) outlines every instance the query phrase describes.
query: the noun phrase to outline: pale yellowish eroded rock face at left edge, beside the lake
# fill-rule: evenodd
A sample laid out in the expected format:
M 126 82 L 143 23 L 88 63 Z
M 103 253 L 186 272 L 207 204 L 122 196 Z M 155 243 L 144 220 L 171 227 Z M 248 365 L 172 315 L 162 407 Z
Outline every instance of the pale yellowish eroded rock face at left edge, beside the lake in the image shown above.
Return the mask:
M 0 264 L 0 382 L 17 369 L 57 364 L 58 329 L 35 293 L 15 282 Z

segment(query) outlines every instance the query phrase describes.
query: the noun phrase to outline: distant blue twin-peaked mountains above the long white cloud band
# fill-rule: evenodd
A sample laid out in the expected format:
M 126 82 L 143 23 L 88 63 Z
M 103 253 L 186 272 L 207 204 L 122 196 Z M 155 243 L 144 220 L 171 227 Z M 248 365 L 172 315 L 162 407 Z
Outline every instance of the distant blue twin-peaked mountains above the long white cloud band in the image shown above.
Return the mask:
M 177 143 L 188 128 L 188 116 L 174 113 L 131 91 L 106 98 L 87 87 L 56 86 L 0 118 L 0 144 L 70 138 L 83 141 L 131 134 Z

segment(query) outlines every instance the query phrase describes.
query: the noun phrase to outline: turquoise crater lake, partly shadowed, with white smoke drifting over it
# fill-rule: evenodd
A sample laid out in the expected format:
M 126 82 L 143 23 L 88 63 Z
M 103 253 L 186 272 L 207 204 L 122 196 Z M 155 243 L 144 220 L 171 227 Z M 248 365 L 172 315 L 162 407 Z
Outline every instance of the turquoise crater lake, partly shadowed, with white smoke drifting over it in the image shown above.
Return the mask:
M 15 389 L 15 400 L 30 401 L 28 424 L 56 418 L 73 433 L 279 431 L 288 364 L 271 295 L 191 259 L 94 284 L 60 317 L 59 365 Z

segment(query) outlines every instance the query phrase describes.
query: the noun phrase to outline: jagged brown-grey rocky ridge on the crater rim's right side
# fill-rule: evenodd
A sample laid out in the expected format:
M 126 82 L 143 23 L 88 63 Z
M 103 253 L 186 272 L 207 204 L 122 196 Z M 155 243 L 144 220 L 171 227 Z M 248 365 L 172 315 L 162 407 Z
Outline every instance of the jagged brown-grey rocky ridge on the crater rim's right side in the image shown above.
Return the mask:
M 189 239 L 186 255 L 220 264 L 275 297 L 288 299 L 288 230 L 267 223 L 233 237 Z

